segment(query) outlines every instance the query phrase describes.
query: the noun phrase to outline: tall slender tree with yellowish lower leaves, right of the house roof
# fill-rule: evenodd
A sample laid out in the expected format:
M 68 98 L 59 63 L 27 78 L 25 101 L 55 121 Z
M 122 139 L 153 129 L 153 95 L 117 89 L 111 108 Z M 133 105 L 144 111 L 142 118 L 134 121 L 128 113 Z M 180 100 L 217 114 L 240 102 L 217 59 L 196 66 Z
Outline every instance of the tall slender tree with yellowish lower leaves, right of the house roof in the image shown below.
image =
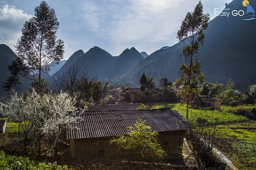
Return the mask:
M 185 58 L 185 64 L 180 66 L 180 78 L 175 82 L 176 88 L 182 88 L 178 92 L 181 101 L 186 103 L 186 119 L 188 119 L 189 104 L 199 94 L 198 83 L 204 82 L 204 74 L 200 71 L 201 64 L 196 57 L 199 46 L 204 44 L 203 31 L 208 27 L 209 14 L 203 14 L 201 1 L 194 12 L 188 12 L 182 21 L 177 39 L 183 41 L 185 46 L 181 58 Z

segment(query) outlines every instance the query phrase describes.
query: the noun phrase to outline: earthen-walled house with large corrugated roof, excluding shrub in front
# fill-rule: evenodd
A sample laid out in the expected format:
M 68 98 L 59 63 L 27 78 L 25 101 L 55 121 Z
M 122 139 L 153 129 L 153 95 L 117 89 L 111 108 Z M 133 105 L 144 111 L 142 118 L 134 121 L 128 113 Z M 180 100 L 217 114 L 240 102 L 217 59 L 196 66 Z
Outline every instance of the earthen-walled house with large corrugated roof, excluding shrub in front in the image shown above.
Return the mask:
M 73 159 L 111 159 L 140 161 L 136 150 L 127 150 L 110 140 L 127 134 L 127 126 L 135 124 L 138 118 L 145 119 L 152 130 L 158 132 L 157 142 L 165 151 L 163 161 L 182 159 L 185 131 L 191 125 L 177 111 L 169 108 L 127 111 L 78 111 L 76 122 L 67 127 L 70 140 L 70 157 Z M 156 157 L 145 156 L 144 161 L 159 161 Z

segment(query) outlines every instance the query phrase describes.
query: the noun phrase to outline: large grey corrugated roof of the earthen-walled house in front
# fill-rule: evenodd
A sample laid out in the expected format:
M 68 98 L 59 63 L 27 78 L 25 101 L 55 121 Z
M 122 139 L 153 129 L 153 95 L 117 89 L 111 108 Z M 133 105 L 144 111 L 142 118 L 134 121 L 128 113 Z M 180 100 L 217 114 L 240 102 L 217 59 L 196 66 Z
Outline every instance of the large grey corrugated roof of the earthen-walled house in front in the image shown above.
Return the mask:
M 157 132 L 188 130 L 192 126 L 177 111 L 169 108 L 130 111 L 78 111 L 76 122 L 67 127 L 67 139 L 98 138 L 127 134 L 127 126 L 145 119 Z

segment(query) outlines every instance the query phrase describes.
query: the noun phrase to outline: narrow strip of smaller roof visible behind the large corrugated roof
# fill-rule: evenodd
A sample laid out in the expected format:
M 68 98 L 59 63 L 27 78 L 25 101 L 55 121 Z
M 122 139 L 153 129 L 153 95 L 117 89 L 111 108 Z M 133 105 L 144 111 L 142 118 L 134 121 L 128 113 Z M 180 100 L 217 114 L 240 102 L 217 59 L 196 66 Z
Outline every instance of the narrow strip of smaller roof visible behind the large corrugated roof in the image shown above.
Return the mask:
M 140 107 L 141 103 L 129 103 L 129 104 L 119 104 L 119 105 L 95 105 L 88 106 L 89 111 L 128 111 L 128 110 L 137 110 Z

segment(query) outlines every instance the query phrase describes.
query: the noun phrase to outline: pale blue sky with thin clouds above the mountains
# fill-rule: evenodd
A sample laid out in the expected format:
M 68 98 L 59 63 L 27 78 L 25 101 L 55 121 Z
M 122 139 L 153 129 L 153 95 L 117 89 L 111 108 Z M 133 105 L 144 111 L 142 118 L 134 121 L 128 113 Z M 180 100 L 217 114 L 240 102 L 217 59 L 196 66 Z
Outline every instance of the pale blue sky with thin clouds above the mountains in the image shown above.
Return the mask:
M 0 0 L 0 44 L 13 51 L 26 20 L 42 0 Z M 199 0 L 46 0 L 60 23 L 57 38 L 64 41 L 64 59 L 98 46 L 113 56 L 126 48 L 151 54 L 177 43 L 177 31 Z M 201 0 L 210 20 L 226 0 Z M 6 5 L 8 4 L 8 10 Z M 11 10 L 10 10 L 11 9 Z

